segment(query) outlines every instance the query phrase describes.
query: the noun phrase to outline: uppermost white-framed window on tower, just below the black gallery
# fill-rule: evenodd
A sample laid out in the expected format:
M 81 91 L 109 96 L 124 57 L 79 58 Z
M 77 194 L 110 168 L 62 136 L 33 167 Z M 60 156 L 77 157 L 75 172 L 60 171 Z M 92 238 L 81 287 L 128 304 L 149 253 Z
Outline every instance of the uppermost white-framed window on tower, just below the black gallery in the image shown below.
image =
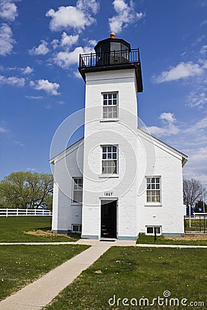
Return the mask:
M 118 93 L 103 94 L 103 118 L 118 117 Z

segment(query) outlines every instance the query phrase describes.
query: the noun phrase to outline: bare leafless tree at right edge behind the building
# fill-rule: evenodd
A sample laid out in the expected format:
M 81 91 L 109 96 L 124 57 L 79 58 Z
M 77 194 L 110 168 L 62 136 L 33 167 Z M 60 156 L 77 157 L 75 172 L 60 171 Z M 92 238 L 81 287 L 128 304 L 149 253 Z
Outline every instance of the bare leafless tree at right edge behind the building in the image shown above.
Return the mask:
M 203 188 L 199 180 L 191 178 L 190 180 L 184 180 L 184 204 L 195 205 L 199 200 L 206 197 L 206 189 Z

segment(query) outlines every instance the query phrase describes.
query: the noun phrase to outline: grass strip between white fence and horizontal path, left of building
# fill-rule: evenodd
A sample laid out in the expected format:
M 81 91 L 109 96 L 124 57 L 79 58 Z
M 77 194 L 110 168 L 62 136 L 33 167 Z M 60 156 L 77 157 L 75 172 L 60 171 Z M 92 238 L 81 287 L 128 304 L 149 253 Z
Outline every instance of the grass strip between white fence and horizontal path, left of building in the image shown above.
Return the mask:
M 0 242 L 61 242 L 76 241 L 66 235 L 34 236 L 25 231 L 48 231 L 51 229 L 51 216 L 10 216 L 0 218 Z

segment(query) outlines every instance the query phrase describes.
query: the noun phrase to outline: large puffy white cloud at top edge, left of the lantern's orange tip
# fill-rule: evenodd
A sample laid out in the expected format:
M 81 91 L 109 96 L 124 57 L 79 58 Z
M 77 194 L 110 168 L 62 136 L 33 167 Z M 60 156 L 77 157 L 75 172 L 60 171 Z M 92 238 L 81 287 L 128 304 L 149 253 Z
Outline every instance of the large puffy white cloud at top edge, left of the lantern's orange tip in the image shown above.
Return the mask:
M 97 14 L 99 4 L 96 0 L 78 0 L 77 6 L 60 6 L 57 11 L 50 9 L 46 17 L 51 17 L 50 30 L 59 31 L 73 28 L 81 32 L 86 26 L 95 23 L 91 14 Z

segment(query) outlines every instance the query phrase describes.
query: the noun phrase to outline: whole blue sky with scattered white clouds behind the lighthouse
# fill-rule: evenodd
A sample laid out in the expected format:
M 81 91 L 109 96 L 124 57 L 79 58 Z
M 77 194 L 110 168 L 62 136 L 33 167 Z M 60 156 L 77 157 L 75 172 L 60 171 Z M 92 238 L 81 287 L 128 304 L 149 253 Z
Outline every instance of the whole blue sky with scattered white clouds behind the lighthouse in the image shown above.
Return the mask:
M 139 118 L 207 187 L 206 30 L 206 0 L 0 0 L 0 178 L 50 172 L 52 136 L 84 107 L 79 53 L 113 31 L 140 48 Z

